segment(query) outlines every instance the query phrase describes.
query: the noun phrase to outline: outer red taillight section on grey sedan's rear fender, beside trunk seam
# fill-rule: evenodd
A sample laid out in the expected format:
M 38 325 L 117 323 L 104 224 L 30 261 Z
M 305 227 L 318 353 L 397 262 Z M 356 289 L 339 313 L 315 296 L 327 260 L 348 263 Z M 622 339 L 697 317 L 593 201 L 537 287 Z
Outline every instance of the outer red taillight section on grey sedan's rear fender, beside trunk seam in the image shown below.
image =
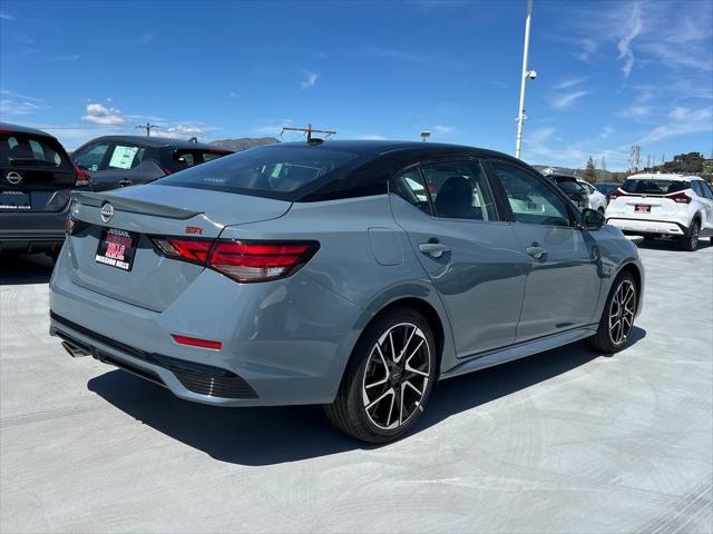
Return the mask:
M 318 249 L 315 241 L 217 241 L 208 267 L 237 281 L 274 280 L 302 267 Z

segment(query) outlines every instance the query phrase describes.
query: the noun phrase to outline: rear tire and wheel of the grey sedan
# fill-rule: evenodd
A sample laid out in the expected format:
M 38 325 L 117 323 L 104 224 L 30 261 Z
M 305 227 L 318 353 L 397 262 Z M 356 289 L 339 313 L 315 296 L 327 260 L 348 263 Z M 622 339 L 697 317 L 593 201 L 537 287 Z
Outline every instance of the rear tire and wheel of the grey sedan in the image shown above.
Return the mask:
M 334 426 L 356 439 L 398 439 L 423 413 L 438 359 L 423 316 L 410 308 L 389 310 L 362 333 L 336 398 L 324 412 Z

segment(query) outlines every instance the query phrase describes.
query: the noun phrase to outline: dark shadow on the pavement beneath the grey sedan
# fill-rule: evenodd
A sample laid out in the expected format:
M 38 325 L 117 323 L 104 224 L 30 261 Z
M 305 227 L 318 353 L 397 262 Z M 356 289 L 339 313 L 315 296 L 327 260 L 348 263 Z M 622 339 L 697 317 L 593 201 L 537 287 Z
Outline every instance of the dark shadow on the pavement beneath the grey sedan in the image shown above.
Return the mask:
M 632 330 L 632 343 L 645 337 Z M 604 356 L 576 343 L 439 383 L 419 433 L 451 415 L 481 407 Z M 574 386 L 573 386 L 574 387 Z M 137 421 L 221 462 L 272 465 L 353 449 L 371 449 L 330 425 L 321 406 L 221 408 L 191 403 L 129 373 L 111 370 L 88 388 Z M 408 436 L 407 436 L 408 439 Z

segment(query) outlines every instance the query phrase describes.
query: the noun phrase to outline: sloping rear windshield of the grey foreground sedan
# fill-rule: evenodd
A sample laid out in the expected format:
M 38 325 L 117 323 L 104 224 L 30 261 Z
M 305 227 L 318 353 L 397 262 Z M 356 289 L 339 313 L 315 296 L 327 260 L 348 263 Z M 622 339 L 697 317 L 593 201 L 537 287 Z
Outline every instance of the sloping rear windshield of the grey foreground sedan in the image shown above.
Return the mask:
M 341 175 L 359 155 L 319 147 L 257 147 L 162 178 L 164 186 L 294 200 Z

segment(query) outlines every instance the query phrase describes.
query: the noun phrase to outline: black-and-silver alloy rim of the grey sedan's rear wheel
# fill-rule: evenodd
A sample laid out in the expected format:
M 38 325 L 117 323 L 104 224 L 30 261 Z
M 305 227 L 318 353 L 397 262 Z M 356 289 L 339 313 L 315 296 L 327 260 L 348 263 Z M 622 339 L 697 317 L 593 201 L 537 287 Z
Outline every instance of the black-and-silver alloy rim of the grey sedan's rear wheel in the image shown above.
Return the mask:
M 387 329 L 369 355 L 362 400 L 369 421 L 393 431 L 422 409 L 431 370 L 431 348 L 423 332 L 411 323 Z

